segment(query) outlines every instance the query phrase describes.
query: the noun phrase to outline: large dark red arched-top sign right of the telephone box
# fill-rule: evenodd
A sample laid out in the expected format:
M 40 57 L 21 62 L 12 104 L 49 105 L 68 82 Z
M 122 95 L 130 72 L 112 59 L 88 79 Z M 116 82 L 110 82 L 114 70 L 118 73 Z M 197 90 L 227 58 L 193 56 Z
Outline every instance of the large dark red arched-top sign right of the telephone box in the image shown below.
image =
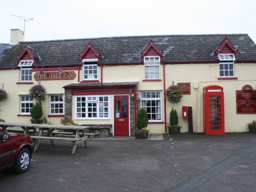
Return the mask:
M 236 114 L 255 114 L 256 99 L 252 97 L 251 85 L 244 85 L 242 90 L 236 90 Z

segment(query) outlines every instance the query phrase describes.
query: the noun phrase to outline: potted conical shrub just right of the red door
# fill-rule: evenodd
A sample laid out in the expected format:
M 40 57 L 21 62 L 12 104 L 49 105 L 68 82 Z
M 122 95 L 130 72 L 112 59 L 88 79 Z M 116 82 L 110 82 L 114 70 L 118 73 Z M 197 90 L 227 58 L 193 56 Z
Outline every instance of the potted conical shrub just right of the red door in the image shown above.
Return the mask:
M 148 114 L 144 108 L 141 108 L 137 113 L 137 121 L 135 131 L 135 139 L 148 139 Z

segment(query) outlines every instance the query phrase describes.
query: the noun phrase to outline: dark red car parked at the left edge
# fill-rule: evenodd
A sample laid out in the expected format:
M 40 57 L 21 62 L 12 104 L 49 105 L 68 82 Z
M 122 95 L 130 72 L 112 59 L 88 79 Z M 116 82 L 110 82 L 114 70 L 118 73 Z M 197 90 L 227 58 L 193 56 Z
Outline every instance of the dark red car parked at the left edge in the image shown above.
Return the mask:
M 17 173 L 28 171 L 34 146 L 29 135 L 8 134 L 0 129 L 0 170 L 12 166 Z

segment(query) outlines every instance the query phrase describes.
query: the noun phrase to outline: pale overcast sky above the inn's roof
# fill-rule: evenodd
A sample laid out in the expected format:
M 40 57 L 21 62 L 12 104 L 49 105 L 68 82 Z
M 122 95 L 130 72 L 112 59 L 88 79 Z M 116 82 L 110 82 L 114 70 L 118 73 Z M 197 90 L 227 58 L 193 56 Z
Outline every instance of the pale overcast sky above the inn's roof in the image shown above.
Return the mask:
M 174 34 L 247 33 L 256 43 L 255 0 L 1 0 L 0 43 Z

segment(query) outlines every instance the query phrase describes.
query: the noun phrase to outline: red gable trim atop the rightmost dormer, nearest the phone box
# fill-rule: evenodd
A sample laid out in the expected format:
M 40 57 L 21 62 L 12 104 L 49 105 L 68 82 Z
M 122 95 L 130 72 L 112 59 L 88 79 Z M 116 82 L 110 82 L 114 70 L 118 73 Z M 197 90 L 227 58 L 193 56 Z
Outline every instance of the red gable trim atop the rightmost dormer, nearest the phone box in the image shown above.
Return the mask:
M 213 53 L 215 55 L 215 58 L 218 59 L 218 54 L 226 54 L 226 53 L 232 53 L 235 54 L 237 53 L 236 47 L 228 40 L 226 37 L 220 45 L 216 48 L 215 52 Z

